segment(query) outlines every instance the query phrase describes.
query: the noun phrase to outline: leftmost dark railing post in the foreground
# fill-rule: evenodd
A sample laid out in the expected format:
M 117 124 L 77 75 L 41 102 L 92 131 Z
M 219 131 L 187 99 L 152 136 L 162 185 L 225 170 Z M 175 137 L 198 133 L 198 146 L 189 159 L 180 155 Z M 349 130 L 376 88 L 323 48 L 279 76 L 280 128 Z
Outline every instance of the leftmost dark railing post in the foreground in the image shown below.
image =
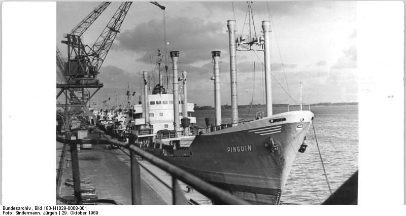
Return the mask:
M 73 188 L 75 194 L 76 204 L 82 204 L 82 192 L 80 188 L 80 172 L 79 172 L 79 158 L 78 149 L 76 147 L 76 141 L 70 142 L 71 146 L 71 159 L 72 159 L 72 177 L 73 177 Z

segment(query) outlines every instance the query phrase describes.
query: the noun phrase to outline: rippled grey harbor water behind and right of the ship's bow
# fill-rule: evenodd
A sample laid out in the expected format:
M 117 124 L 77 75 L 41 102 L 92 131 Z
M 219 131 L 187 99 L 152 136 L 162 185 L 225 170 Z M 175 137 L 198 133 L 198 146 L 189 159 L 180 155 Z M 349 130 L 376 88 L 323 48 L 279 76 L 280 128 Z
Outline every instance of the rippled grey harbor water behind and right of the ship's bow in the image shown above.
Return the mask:
M 239 108 L 240 120 L 254 119 L 263 107 Z M 292 109 L 291 109 L 292 110 Z M 297 107 L 296 109 L 297 110 Z M 303 107 L 308 110 L 308 107 Z M 358 106 L 311 106 L 313 121 L 331 190 L 338 189 L 358 170 Z M 205 118 L 214 117 L 212 110 L 195 110 L 197 125 L 205 127 Z M 274 114 L 287 112 L 287 106 L 275 107 Z M 231 110 L 222 110 L 223 123 L 231 122 Z M 282 194 L 284 204 L 320 204 L 330 196 L 316 139 L 311 128 L 307 150 L 297 153 L 289 179 Z

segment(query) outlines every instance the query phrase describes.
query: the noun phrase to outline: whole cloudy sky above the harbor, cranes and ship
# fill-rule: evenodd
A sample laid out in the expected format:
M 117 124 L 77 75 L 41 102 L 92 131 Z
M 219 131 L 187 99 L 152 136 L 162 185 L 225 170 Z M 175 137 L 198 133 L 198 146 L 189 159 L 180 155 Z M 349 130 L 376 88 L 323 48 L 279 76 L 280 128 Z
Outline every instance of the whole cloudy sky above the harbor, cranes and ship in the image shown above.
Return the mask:
M 229 50 L 226 21 L 236 19 L 237 33 L 244 27 L 246 2 L 160 2 L 166 7 L 167 53 L 180 51 L 179 69 L 188 71 L 188 100 L 213 105 L 213 63 L 211 51 L 220 50 L 221 103 L 230 104 Z M 254 2 L 257 34 L 261 21 L 273 20 L 272 89 L 274 103 L 299 101 L 303 83 L 303 102 L 355 102 L 357 96 L 356 2 Z M 99 3 L 57 2 L 57 46 Z M 119 7 L 113 2 L 83 35 L 93 45 Z M 233 13 L 234 11 L 234 13 Z M 247 33 L 247 27 L 244 32 Z M 124 98 L 127 84 L 141 93 L 141 73 L 155 68 L 157 49 L 163 52 L 163 12 L 147 2 L 131 5 L 121 32 L 100 69 L 105 84 L 94 97 L 99 102 Z M 279 48 L 279 49 L 278 49 Z M 238 52 L 239 104 L 264 103 L 263 53 Z M 152 64 L 151 64 L 152 62 Z M 171 62 L 168 59 L 168 62 Z M 282 66 L 283 62 L 283 66 Z M 255 71 L 254 71 L 255 64 Z M 172 64 L 168 64 L 172 68 Z M 170 70 L 169 70 L 170 71 Z M 172 71 L 170 71 L 172 73 Z M 157 73 L 151 75 L 156 84 Z M 154 79 L 153 79 L 154 78 Z M 170 87 L 171 89 L 172 87 Z M 254 97 L 253 97 L 254 95 Z

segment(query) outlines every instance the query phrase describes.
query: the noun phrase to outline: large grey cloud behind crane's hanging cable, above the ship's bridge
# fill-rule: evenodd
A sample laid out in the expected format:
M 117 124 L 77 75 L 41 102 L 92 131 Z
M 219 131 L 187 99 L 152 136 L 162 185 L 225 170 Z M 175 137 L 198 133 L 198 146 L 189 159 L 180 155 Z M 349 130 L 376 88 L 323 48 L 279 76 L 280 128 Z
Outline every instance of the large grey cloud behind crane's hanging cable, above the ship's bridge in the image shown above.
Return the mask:
M 180 62 L 192 64 L 210 61 L 211 51 L 225 51 L 228 37 L 224 33 L 226 25 L 222 22 L 206 22 L 200 18 L 174 17 L 166 20 L 167 52 L 180 51 Z M 163 24 L 161 20 L 143 22 L 131 30 L 117 36 L 118 48 L 135 51 L 143 55 L 140 61 L 149 63 L 150 54 L 156 49 L 163 52 Z M 157 43 L 162 42 L 162 43 Z

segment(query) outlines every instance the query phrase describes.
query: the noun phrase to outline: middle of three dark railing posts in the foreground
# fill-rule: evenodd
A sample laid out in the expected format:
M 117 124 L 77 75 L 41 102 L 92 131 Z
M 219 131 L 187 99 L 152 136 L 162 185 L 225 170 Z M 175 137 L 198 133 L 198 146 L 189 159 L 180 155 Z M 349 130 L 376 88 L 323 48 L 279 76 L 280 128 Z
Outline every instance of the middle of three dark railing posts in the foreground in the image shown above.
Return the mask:
M 136 154 L 130 150 L 131 163 L 131 204 L 141 205 L 141 175 Z

